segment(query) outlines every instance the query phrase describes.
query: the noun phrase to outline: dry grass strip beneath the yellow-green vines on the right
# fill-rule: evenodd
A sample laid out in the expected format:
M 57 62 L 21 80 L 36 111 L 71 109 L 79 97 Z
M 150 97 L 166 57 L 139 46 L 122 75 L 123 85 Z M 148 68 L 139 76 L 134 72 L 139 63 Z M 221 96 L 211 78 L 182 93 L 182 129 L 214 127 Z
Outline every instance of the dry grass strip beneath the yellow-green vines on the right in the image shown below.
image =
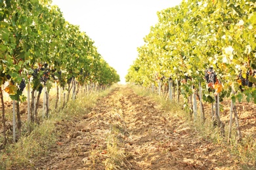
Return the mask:
M 160 96 L 157 93 L 152 93 L 151 90 L 146 90 L 139 86 L 131 86 L 133 90 L 139 95 L 146 95 L 151 97 L 154 101 L 161 105 L 165 110 L 165 115 L 171 115 L 174 117 L 182 118 L 186 120 L 182 127 L 189 126 L 191 129 L 197 132 L 199 139 L 211 141 L 218 144 L 223 148 L 226 148 L 232 156 L 235 156 L 240 162 L 242 169 L 255 169 L 256 168 L 256 139 L 250 135 L 244 135 L 242 141 L 237 143 L 236 127 L 233 124 L 232 138 L 230 143 L 227 142 L 228 137 L 228 124 L 225 126 L 225 137 L 221 137 L 218 127 L 213 128 L 213 123 L 210 116 L 207 116 L 207 120 L 204 124 L 201 121 L 194 122 L 192 116 L 188 113 L 188 110 L 183 110 L 179 103 L 171 103 L 166 97 Z M 199 113 L 199 111 L 198 111 Z M 197 120 L 200 120 L 200 114 L 198 114 Z

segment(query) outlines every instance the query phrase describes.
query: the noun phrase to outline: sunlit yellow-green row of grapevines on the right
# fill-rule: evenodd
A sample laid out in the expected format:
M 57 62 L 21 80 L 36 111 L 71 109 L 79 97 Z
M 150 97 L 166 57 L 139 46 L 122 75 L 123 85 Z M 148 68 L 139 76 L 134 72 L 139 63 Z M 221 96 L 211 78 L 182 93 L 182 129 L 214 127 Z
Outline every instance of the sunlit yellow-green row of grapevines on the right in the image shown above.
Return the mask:
M 126 81 L 145 87 L 168 84 L 182 94 L 186 107 L 194 113 L 200 99 L 212 103 L 213 125 L 224 135 L 219 105 L 230 98 L 232 114 L 239 130 L 236 101 L 256 103 L 256 3 L 255 0 L 187 0 L 158 12 L 159 22 L 144 37 L 139 57 L 129 68 Z M 194 103 L 192 103 L 194 101 Z M 180 101 L 179 101 L 180 102 Z M 214 105 L 215 103 L 215 105 Z M 213 110 L 215 109 L 215 110 Z

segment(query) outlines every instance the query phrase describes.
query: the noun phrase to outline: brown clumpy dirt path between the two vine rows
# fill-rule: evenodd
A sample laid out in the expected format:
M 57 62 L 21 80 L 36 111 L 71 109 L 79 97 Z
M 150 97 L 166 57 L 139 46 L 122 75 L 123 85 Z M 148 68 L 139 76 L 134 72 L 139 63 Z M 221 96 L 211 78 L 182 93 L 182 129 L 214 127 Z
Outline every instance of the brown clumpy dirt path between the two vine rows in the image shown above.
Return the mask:
M 127 87 L 99 99 L 83 118 L 56 126 L 60 140 L 35 169 L 238 169 L 225 148 Z

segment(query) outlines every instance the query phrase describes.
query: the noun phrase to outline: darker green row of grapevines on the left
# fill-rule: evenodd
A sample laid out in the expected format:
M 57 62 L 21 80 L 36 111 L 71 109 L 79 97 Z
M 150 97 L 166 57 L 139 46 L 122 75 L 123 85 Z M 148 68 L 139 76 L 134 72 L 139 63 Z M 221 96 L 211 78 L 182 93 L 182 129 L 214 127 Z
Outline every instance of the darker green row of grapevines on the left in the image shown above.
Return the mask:
M 3 146 L 7 143 L 3 91 L 16 101 L 20 131 L 19 104 L 27 100 L 27 95 L 22 93 L 26 86 L 28 105 L 31 101 L 31 108 L 28 107 L 30 124 L 37 120 L 35 107 L 38 106 L 41 92 L 48 94 L 54 84 L 57 90 L 70 92 L 74 86 L 109 86 L 118 81 L 116 70 L 100 56 L 94 42 L 80 31 L 79 26 L 67 22 L 60 9 L 51 5 L 51 1 L 0 1 L 0 97 L 3 120 L 3 137 L 0 138 L 3 140 L 0 142 L 3 141 Z

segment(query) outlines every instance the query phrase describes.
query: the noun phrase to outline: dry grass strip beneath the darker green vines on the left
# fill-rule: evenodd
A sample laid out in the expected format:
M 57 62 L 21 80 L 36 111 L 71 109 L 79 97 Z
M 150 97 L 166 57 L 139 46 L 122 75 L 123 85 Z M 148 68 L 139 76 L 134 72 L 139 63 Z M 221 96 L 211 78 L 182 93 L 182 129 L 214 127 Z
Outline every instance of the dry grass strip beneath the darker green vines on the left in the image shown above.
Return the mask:
M 34 160 L 47 155 L 51 146 L 56 144 L 59 133 L 55 130 L 56 122 L 63 119 L 72 119 L 77 115 L 89 112 L 89 109 L 95 106 L 96 100 L 109 93 L 110 90 L 80 96 L 75 101 L 69 101 L 67 106 L 59 112 L 52 110 L 48 119 L 43 120 L 40 125 L 32 125 L 32 133 L 29 135 L 24 133 L 18 143 L 9 144 L 4 150 L 0 151 L 0 169 L 11 169 L 12 166 L 17 165 L 19 167 L 28 165 L 33 167 Z M 54 96 L 54 94 L 52 95 Z M 54 108 L 54 97 L 52 98 L 50 108 Z

